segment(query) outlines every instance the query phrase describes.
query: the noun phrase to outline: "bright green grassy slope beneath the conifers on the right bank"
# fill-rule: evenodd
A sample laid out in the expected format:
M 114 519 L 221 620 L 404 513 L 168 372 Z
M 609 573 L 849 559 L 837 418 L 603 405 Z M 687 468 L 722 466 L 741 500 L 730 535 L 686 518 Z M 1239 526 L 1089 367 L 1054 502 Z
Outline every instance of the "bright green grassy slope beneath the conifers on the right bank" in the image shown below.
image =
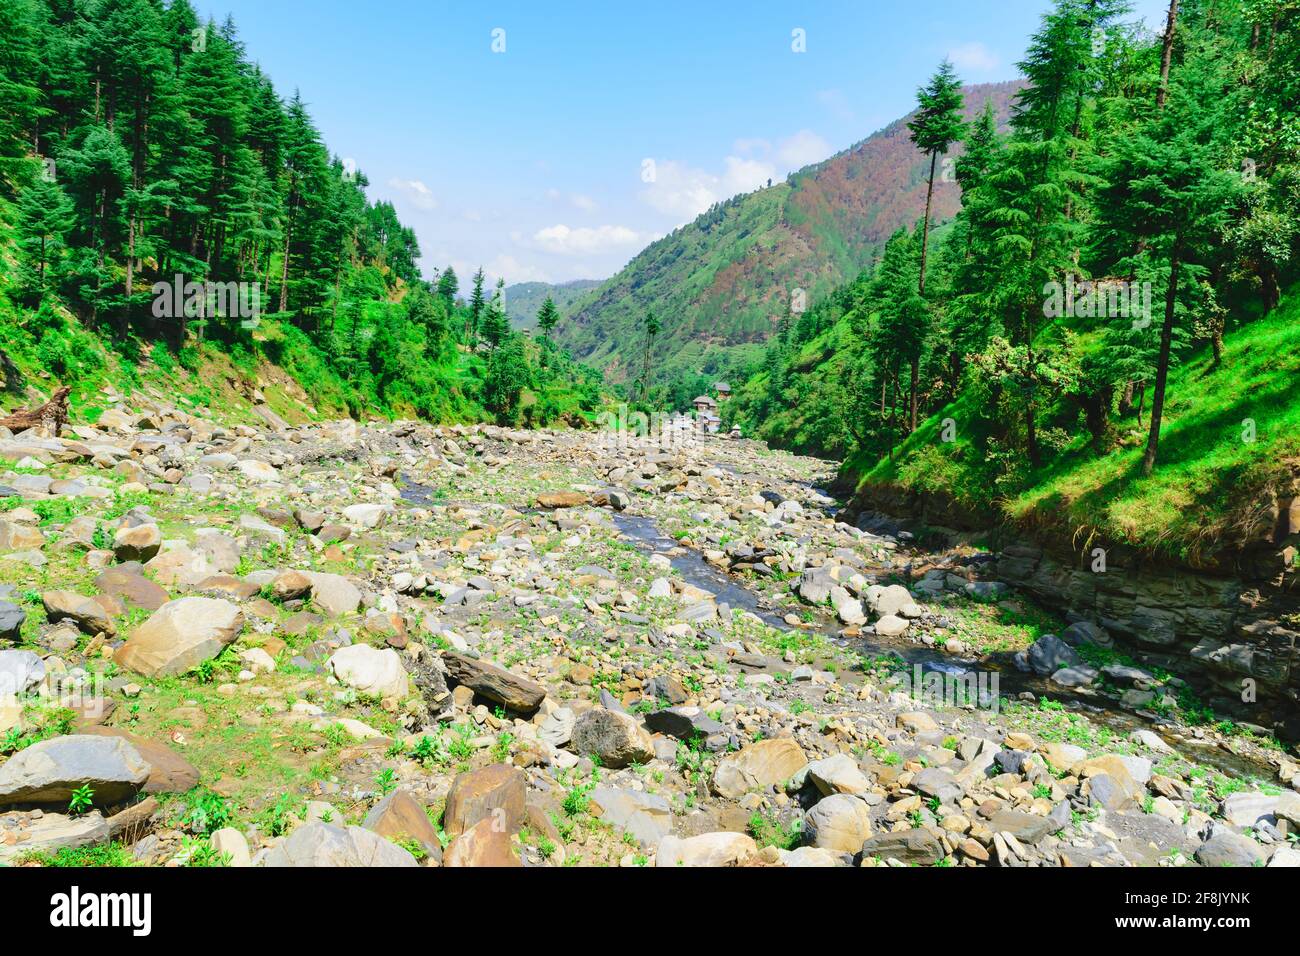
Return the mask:
M 970 421 L 968 395 L 930 418 L 894 460 L 845 463 L 861 496 L 902 486 L 942 490 L 968 506 L 1058 533 L 1108 540 L 1195 558 L 1271 528 L 1270 490 L 1288 489 L 1300 463 L 1300 290 L 1270 316 L 1230 332 L 1223 364 L 1208 347 L 1170 372 L 1169 401 L 1154 475 L 1140 473 L 1145 429 L 1123 420 L 1121 447 L 1096 457 L 1087 436 L 1030 473 L 1027 486 L 988 494 L 968 434 L 939 441 L 945 418 Z M 1253 420 L 1253 442 L 1243 440 Z

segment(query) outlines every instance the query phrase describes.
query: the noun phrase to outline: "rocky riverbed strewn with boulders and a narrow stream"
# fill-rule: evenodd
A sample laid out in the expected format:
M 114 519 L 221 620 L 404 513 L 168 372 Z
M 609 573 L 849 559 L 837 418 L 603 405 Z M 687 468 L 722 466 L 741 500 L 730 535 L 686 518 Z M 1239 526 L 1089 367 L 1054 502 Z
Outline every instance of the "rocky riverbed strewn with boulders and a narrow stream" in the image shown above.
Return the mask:
M 0 436 L 0 862 L 1295 866 L 1300 766 L 749 441 Z

